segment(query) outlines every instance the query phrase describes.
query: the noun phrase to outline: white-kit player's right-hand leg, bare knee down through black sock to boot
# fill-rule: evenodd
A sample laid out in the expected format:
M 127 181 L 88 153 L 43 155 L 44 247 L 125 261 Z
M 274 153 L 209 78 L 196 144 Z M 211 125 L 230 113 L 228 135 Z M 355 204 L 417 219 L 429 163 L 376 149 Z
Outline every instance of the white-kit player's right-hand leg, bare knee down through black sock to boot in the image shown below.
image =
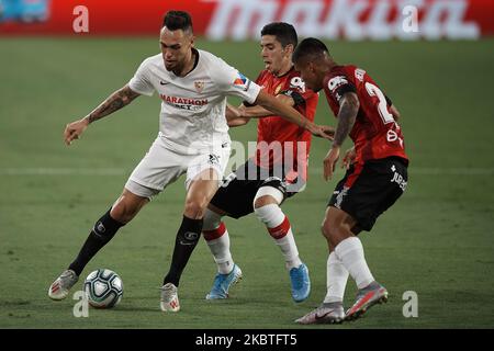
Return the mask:
M 170 270 L 161 288 L 161 310 L 178 312 L 180 304 L 177 287 L 180 276 L 198 245 L 207 204 L 217 191 L 220 176 L 213 168 L 199 173 L 191 182 L 186 196 L 183 219 L 177 233 Z

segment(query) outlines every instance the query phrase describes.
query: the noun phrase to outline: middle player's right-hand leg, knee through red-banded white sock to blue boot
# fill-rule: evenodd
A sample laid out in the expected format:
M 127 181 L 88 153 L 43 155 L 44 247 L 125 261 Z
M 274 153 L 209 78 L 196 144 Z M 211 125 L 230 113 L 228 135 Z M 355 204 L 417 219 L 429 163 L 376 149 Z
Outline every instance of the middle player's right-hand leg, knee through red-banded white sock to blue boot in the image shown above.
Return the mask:
M 254 201 L 254 212 L 280 248 L 290 274 L 292 298 L 300 303 L 311 293 L 311 280 L 307 267 L 299 258 L 290 222 L 280 208 L 282 201 L 281 191 L 272 186 L 261 186 Z

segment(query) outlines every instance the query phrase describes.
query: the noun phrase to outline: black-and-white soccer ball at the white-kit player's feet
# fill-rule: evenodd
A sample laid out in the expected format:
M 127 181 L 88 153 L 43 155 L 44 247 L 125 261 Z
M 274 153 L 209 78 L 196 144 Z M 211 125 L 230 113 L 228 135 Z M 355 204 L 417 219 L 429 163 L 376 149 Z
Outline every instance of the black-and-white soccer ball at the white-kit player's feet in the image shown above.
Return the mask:
M 111 270 L 99 269 L 86 278 L 85 292 L 92 307 L 111 308 L 122 299 L 122 279 Z

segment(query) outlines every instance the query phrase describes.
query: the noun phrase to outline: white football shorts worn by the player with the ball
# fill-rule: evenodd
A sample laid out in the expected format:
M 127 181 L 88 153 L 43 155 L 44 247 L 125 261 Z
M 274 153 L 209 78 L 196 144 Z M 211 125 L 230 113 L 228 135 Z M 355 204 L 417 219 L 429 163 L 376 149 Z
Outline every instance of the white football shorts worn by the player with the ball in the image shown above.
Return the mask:
M 228 163 L 229 152 L 231 144 L 224 143 L 209 150 L 200 151 L 198 155 L 180 154 L 167 147 L 158 136 L 149 151 L 132 172 L 125 183 L 125 189 L 138 196 L 151 200 L 186 172 L 186 189 L 189 190 L 192 180 L 207 168 L 216 171 L 220 185 Z

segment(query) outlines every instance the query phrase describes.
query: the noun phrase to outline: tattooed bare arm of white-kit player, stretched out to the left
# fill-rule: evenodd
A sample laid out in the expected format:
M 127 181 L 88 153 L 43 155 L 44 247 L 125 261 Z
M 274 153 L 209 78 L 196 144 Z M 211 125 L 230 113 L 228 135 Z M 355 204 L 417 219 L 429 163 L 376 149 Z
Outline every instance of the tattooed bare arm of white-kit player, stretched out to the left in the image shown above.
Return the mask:
M 64 132 L 65 144 L 70 145 L 74 139 L 79 138 L 79 136 L 86 131 L 90 123 L 101 120 L 102 117 L 108 116 L 109 114 L 122 109 L 123 106 L 128 105 L 135 98 L 139 95 L 139 93 L 132 91 L 128 86 L 125 86 L 122 89 L 115 91 L 86 117 L 67 124 Z

